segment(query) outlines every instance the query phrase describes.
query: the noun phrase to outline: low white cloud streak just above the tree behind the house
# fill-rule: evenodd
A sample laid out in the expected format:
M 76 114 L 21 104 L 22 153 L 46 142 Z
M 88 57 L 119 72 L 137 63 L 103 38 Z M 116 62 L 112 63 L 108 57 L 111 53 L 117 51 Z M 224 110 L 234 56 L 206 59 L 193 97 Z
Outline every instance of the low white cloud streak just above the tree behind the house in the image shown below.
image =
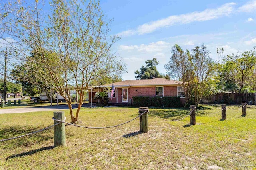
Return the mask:
M 167 48 L 169 45 L 169 43 L 164 42 L 164 41 L 157 41 L 157 42 L 153 42 L 153 43 L 149 43 L 148 45 L 146 44 L 141 44 L 139 46 L 137 45 L 120 45 L 119 49 L 123 50 L 123 51 L 131 51 L 131 50 L 138 50 L 140 52 L 158 52 L 158 51 L 162 51 L 163 49 Z

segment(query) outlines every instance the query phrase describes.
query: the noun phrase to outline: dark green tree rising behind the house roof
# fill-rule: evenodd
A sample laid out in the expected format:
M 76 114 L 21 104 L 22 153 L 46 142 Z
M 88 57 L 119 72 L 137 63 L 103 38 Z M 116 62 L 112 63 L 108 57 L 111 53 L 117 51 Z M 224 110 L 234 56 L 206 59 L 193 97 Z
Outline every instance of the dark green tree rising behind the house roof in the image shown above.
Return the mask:
M 153 58 L 152 60 L 145 61 L 146 66 L 142 66 L 140 68 L 140 71 L 136 70 L 134 73 L 136 74 L 135 78 L 137 80 L 140 79 L 150 79 L 150 78 L 164 78 L 165 76 L 163 74 L 160 74 L 158 70 L 156 69 L 156 66 L 159 64 L 156 58 Z

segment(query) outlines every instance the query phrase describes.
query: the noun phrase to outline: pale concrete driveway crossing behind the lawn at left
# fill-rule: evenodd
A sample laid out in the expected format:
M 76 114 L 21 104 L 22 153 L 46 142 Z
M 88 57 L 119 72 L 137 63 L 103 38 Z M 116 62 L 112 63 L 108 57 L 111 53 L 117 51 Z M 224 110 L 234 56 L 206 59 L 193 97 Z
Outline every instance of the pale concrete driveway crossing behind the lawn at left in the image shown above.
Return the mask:
M 72 108 L 76 109 L 78 104 L 72 104 Z M 82 107 L 90 107 L 88 104 L 83 104 Z M 10 113 L 27 113 L 27 112 L 37 112 L 37 111 L 58 111 L 58 110 L 68 110 L 68 105 L 59 106 L 33 106 L 33 107 L 22 107 L 16 109 L 0 109 L 0 114 L 10 114 Z

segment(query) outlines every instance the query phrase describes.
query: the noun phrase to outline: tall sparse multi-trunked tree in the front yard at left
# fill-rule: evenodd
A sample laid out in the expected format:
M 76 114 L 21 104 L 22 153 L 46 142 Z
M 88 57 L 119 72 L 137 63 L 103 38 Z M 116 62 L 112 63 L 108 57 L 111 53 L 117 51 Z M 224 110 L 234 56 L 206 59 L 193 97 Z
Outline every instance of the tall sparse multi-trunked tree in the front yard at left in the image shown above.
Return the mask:
M 17 39 L 10 45 L 32 63 L 28 71 L 65 98 L 71 121 L 76 123 L 83 101 L 74 114 L 70 85 L 82 99 L 90 81 L 109 72 L 121 73 L 124 65 L 112 53 L 119 37 L 108 35 L 112 21 L 104 21 L 99 2 L 53 0 L 48 19 L 43 4 L 37 0 L 30 5 L 23 1 L 2 4 L 0 31 Z M 30 51 L 34 57 L 28 55 Z

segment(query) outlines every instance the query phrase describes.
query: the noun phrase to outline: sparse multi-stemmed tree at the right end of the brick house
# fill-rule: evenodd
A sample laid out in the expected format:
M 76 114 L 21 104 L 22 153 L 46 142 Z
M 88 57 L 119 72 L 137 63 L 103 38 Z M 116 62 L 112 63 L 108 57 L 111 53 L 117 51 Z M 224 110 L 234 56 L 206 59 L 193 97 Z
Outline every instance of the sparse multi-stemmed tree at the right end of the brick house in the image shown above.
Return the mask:
M 203 44 L 196 46 L 192 53 L 188 49 L 183 51 L 179 45 L 172 47 L 172 56 L 164 68 L 174 80 L 182 82 L 185 92 L 186 104 L 196 104 L 209 92 L 212 87 L 214 75 L 214 61 L 210 58 L 210 51 Z

